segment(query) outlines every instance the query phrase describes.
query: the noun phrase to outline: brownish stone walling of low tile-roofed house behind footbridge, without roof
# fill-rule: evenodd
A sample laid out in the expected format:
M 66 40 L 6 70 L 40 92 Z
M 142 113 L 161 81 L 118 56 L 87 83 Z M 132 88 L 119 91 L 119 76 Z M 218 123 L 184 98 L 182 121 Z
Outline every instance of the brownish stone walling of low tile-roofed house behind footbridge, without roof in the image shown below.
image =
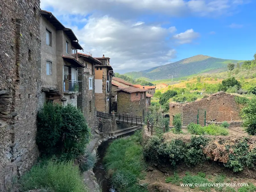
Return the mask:
M 142 93 L 141 95 L 142 98 Z M 146 111 L 145 98 L 141 100 L 131 101 L 131 94 L 123 91 L 117 92 L 117 113 L 118 114 L 129 114 L 129 115 L 143 115 Z

